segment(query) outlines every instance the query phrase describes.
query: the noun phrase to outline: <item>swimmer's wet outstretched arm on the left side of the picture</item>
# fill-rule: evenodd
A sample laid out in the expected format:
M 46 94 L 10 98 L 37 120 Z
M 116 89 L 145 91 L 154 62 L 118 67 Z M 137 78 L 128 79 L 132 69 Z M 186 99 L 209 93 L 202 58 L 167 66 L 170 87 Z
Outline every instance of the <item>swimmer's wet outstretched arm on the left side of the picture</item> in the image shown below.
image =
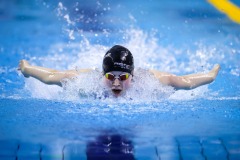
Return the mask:
M 34 77 L 45 84 L 62 86 L 61 80 L 78 76 L 81 72 L 89 72 L 91 69 L 58 71 L 40 66 L 32 66 L 26 60 L 21 60 L 19 68 L 24 77 Z

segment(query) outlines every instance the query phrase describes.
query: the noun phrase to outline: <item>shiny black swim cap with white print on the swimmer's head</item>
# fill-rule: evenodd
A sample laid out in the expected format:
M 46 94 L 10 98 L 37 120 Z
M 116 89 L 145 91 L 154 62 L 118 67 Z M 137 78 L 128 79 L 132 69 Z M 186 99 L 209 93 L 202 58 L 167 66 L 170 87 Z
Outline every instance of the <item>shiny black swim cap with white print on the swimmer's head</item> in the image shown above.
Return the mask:
M 113 46 L 103 58 L 103 73 L 122 71 L 133 74 L 134 62 L 132 53 L 120 45 Z

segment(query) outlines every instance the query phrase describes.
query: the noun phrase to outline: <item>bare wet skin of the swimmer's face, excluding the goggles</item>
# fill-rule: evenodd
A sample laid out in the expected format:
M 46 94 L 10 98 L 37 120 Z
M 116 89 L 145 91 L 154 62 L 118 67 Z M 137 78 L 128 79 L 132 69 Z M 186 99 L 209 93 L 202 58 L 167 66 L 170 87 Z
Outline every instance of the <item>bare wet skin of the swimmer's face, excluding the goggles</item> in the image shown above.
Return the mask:
M 110 73 L 115 75 L 115 78 L 113 80 L 109 80 L 104 76 L 104 81 L 105 81 L 105 84 L 112 90 L 113 94 L 116 97 L 118 97 L 127 88 L 129 88 L 130 83 L 131 83 L 131 79 L 132 79 L 132 75 L 129 75 L 128 79 L 122 81 L 122 80 L 120 80 L 120 78 L 118 76 L 121 75 L 121 74 L 124 74 L 126 72 L 113 71 L 113 72 L 110 72 Z

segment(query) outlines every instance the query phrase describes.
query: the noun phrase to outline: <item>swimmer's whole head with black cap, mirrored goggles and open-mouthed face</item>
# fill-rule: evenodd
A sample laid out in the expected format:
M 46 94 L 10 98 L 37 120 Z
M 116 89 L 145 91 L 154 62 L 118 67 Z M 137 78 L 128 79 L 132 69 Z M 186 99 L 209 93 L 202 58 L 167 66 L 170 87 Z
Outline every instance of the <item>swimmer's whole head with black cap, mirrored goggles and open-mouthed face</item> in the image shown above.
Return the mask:
M 119 96 L 129 87 L 133 70 L 132 53 L 123 46 L 113 46 L 103 58 L 105 82 L 115 96 Z

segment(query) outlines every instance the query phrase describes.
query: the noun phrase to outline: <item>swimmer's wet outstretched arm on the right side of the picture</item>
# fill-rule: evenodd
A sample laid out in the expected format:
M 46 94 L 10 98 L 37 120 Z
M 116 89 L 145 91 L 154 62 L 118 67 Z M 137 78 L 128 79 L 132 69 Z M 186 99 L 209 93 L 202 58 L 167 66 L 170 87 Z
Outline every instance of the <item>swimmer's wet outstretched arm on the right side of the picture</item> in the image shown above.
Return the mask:
M 189 74 L 176 76 L 174 74 L 150 70 L 156 78 L 164 85 L 169 85 L 175 89 L 194 89 L 196 87 L 213 82 L 218 74 L 220 66 L 217 64 L 208 73 Z

